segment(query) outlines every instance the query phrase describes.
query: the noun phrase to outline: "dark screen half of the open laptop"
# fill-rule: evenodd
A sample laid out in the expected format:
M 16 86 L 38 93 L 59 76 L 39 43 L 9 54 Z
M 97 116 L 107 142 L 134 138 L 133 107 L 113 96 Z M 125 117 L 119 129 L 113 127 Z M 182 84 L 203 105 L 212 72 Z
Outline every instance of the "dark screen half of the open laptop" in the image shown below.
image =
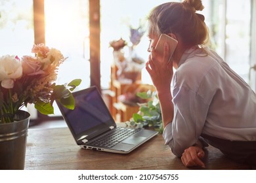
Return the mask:
M 96 87 L 74 92 L 73 95 L 74 110 L 57 104 L 76 140 L 85 136 L 95 137 L 116 125 Z

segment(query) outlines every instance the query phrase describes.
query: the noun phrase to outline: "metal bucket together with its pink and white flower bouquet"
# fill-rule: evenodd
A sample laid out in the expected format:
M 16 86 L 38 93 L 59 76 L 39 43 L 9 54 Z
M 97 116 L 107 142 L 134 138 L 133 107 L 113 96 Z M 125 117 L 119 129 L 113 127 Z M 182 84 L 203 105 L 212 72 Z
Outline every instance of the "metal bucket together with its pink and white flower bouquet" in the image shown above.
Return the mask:
M 42 114 L 53 114 L 53 102 L 74 109 L 72 90 L 81 80 L 55 83 L 59 65 L 66 59 L 59 50 L 34 45 L 35 56 L 0 57 L 0 169 L 24 169 L 30 114 L 22 107 L 33 103 Z

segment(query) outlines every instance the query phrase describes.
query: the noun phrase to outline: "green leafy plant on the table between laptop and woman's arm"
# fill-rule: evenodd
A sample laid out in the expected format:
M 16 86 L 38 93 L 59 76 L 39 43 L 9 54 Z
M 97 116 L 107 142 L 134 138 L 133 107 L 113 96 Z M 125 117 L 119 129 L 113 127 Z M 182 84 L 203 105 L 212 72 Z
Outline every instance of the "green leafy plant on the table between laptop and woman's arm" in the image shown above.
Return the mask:
M 133 114 L 130 124 L 134 127 L 154 127 L 159 133 L 163 133 L 161 108 L 157 93 L 148 90 L 148 92 L 138 92 L 137 96 L 148 100 L 148 102 L 140 104 L 139 111 Z

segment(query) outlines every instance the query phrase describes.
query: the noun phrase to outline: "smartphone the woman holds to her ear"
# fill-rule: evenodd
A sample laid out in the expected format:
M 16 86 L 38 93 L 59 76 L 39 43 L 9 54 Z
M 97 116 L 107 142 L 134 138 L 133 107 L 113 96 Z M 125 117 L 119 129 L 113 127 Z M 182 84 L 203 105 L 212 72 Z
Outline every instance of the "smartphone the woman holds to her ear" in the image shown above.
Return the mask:
M 168 47 L 169 47 L 169 61 L 171 61 L 171 57 L 173 56 L 173 52 L 176 49 L 176 46 L 178 44 L 178 41 L 176 39 L 173 39 L 172 37 L 169 37 L 169 35 L 166 34 L 161 34 L 160 38 L 158 39 L 158 43 L 156 43 L 156 52 L 160 54 L 161 57 L 163 57 L 163 46 L 167 42 Z

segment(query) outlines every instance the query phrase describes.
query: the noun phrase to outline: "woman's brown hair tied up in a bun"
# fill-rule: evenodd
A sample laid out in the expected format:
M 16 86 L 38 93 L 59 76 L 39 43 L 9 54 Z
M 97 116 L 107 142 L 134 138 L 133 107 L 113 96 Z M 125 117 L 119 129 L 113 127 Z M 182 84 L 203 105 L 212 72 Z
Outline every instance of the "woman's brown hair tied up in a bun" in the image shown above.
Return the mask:
M 155 7 L 148 17 L 151 31 L 180 35 L 186 47 L 204 46 L 209 42 L 204 16 L 196 13 L 203 10 L 201 0 L 185 0 L 182 3 L 163 3 Z

